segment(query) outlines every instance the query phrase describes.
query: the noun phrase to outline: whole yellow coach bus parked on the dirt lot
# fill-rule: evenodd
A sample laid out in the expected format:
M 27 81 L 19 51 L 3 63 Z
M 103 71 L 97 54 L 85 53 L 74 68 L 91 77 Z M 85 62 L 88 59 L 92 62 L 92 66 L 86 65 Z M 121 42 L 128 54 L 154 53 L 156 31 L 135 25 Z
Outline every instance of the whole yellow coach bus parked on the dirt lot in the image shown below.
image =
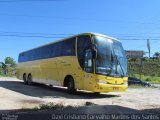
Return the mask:
M 82 33 L 21 52 L 17 78 L 67 87 L 69 93 L 119 92 L 128 88 L 127 60 L 119 40 Z

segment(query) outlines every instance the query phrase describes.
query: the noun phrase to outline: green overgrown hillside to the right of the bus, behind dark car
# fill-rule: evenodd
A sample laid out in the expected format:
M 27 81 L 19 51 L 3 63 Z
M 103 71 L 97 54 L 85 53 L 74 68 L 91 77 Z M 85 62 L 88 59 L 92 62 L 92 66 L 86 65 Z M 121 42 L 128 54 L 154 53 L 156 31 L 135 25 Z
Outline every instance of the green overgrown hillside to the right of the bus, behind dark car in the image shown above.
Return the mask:
M 160 58 L 143 58 L 142 66 L 139 59 L 128 59 L 128 73 L 151 83 L 160 83 Z

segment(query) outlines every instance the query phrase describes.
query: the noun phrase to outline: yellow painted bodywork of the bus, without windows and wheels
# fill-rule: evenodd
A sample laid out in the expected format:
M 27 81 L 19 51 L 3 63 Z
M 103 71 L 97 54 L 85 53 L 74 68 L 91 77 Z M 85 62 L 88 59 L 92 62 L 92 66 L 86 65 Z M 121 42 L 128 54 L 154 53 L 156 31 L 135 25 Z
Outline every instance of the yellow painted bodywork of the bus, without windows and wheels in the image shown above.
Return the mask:
M 77 49 L 76 56 L 62 56 L 19 63 L 17 78 L 23 79 L 24 73 L 27 76 L 32 74 L 33 80 L 57 80 L 61 86 L 64 85 L 64 78 L 71 75 L 74 78 L 76 89 L 92 92 L 119 92 L 128 88 L 127 77 L 109 77 L 97 75 L 95 71 L 94 73 L 87 73 L 82 70 L 77 59 Z M 98 83 L 97 80 L 107 83 Z

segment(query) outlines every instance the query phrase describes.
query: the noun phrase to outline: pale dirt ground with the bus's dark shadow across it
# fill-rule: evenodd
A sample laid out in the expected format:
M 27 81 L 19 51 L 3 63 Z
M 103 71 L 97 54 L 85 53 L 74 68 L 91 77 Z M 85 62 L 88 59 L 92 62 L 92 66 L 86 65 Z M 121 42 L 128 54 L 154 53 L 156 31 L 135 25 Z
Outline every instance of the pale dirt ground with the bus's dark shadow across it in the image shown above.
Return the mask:
M 114 110 L 121 112 L 119 107 L 139 111 L 159 110 L 160 88 L 129 88 L 126 92 L 110 92 L 100 95 L 79 91 L 76 95 L 70 95 L 65 88 L 49 87 L 41 84 L 28 86 L 16 78 L 0 78 L 0 112 L 34 108 L 39 104 L 49 102 L 83 106 L 87 101 L 98 106 L 108 106 L 107 109 L 109 109 L 109 106 L 114 106 L 115 108 L 112 107 L 114 108 L 113 112 Z

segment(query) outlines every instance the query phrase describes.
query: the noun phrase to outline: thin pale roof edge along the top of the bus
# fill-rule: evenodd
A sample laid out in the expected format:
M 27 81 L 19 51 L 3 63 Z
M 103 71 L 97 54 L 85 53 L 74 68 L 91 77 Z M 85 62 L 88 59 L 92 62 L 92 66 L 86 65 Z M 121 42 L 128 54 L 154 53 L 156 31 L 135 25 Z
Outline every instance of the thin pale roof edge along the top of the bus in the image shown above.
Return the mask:
M 32 48 L 32 49 L 23 51 L 23 52 L 21 52 L 21 53 L 28 52 L 28 51 L 31 51 L 31 50 L 34 50 L 34 49 L 38 49 L 38 48 L 41 48 L 41 47 L 44 47 L 44 46 L 47 46 L 47 45 L 50 45 L 50 44 L 53 44 L 53 43 L 57 43 L 57 42 L 60 42 L 60 41 L 63 41 L 63 40 L 67 40 L 67 39 L 69 39 L 69 38 L 77 37 L 77 36 L 80 36 L 80 35 L 96 35 L 96 36 L 102 36 L 102 37 L 106 37 L 106 38 L 108 38 L 108 39 L 112 39 L 112 40 L 119 41 L 119 40 L 116 39 L 116 38 L 113 38 L 113 37 L 110 37 L 110 36 L 107 36 L 107 35 L 104 35 L 104 34 L 94 33 L 94 32 L 85 32 L 85 33 L 80 33 L 80 34 L 76 34 L 76 35 L 73 35 L 73 36 L 69 36 L 69 37 L 66 37 L 66 38 L 62 38 L 62 39 L 60 39 L 60 40 L 56 40 L 56 41 L 50 42 L 50 43 L 48 43 L 48 44 L 35 47 L 35 48 Z M 20 53 L 20 54 L 21 54 L 21 53 Z

